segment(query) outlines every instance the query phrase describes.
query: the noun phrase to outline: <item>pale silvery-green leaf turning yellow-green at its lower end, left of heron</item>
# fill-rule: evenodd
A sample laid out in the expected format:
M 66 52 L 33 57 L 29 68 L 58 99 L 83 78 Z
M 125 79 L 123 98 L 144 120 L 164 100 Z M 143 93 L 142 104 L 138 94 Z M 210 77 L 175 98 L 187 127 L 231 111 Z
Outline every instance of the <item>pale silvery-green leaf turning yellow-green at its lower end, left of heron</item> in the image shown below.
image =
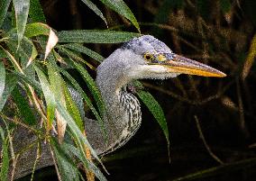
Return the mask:
M 43 74 L 41 69 L 35 67 L 35 70 L 39 77 L 39 80 L 41 83 L 41 89 L 47 104 L 47 131 L 50 131 L 52 121 L 54 119 L 56 102 L 55 102 L 54 95 L 52 95 L 52 92 L 50 91 L 50 84 L 47 80 L 47 77 Z

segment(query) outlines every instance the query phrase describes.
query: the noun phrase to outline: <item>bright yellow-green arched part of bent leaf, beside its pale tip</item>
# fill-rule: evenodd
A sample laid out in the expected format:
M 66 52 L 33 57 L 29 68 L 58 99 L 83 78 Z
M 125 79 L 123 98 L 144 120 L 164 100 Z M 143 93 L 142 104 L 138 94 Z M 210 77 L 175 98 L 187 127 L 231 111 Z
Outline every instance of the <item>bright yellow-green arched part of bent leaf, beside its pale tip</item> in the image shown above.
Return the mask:
M 50 33 L 50 27 L 44 23 L 30 23 L 26 25 L 24 36 L 32 38 L 34 36 L 46 35 Z

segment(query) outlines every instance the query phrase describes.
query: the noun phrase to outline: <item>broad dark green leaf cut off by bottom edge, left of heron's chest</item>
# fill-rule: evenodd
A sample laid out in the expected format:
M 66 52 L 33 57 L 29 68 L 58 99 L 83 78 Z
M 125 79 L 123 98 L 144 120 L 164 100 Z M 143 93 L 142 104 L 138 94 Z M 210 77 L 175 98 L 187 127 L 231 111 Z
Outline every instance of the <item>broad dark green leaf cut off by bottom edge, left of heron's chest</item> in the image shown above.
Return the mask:
M 55 157 L 57 158 L 59 174 L 62 181 L 79 181 L 78 167 L 73 162 L 69 155 L 65 154 L 58 141 L 50 140 L 50 145 L 53 147 Z

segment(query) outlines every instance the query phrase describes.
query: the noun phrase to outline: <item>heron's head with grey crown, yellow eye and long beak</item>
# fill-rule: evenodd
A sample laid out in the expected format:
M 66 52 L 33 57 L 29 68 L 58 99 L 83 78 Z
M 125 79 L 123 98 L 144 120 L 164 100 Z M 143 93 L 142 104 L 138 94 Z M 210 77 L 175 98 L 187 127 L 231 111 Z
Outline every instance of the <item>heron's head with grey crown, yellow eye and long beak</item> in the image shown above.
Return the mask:
M 129 76 L 133 78 L 168 78 L 177 77 L 179 74 L 226 76 L 206 64 L 173 53 L 165 43 L 151 35 L 143 35 L 124 43 L 121 50 L 128 52 L 126 57 L 130 65 L 134 65 L 129 67 Z

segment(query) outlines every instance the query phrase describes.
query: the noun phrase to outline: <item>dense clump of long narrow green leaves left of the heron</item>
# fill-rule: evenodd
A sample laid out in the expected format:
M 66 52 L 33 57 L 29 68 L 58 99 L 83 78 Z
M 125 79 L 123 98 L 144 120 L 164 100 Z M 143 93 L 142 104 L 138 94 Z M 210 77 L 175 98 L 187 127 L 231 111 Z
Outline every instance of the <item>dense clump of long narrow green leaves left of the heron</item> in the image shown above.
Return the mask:
M 96 5 L 88 0 L 83 2 L 107 24 Z M 129 41 L 140 34 L 105 30 L 56 32 L 45 23 L 38 0 L 13 0 L 12 3 L 7 0 L 0 3 L 0 110 L 1 119 L 6 121 L 6 126 L 3 128 L 6 129 L 7 125 L 15 123 L 18 127 L 34 130 L 42 120 L 43 129 L 36 129 L 34 133 L 38 140 L 46 140 L 50 144 L 58 164 L 56 168 L 59 179 L 79 180 L 81 174 L 78 163 L 81 162 L 83 167 L 92 170 L 100 180 L 105 180 L 99 168 L 86 156 L 85 147 L 101 163 L 83 133 L 85 129 L 80 107 L 69 94 L 69 86 L 74 87 L 95 114 L 96 120 L 103 123 L 105 105 L 94 79 L 85 68 L 90 62 L 83 59 L 80 53 L 98 62 L 104 58 L 78 43 L 119 43 Z M 116 3 L 102 1 L 102 3 L 130 20 L 140 32 L 132 11 L 123 1 Z M 8 12 L 12 5 L 14 5 L 11 8 L 12 12 Z M 78 80 L 70 75 L 71 69 L 77 70 L 79 77 L 82 77 L 87 84 L 96 106 L 92 104 Z M 12 109 L 16 109 L 17 112 L 9 115 Z M 158 118 L 160 119 L 159 116 Z M 162 119 L 165 122 L 164 117 Z M 55 138 L 51 138 L 50 131 L 56 124 L 61 144 Z M 8 146 L 11 150 L 14 148 L 12 144 L 8 144 L 5 129 L 0 128 L 3 151 L 1 180 L 6 180 L 9 167 Z M 65 132 L 73 143 L 63 140 Z M 29 145 L 27 147 L 29 150 Z M 14 156 L 13 159 L 19 156 L 14 152 L 11 154 Z

